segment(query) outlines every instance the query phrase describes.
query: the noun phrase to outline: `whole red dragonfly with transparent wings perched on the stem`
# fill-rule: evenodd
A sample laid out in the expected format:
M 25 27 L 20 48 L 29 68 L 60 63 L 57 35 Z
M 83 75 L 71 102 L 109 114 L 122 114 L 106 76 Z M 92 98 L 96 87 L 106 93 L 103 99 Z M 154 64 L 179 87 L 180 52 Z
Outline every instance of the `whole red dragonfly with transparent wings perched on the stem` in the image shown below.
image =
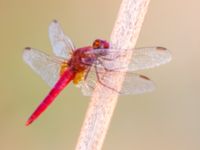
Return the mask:
M 140 94 L 154 90 L 153 81 L 136 71 L 153 68 L 171 60 L 170 51 L 164 47 L 116 49 L 109 42 L 96 39 L 91 45 L 75 48 L 61 25 L 54 20 L 49 25 L 49 39 L 54 55 L 26 47 L 24 61 L 52 88 L 26 122 L 30 125 L 55 100 L 58 94 L 73 82 L 83 95 L 90 96 L 97 83 L 120 95 Z M 132 52 L 130 64 L 123 58 Z M 120 90 L 112 86 L 105 72 L 126 72 Z

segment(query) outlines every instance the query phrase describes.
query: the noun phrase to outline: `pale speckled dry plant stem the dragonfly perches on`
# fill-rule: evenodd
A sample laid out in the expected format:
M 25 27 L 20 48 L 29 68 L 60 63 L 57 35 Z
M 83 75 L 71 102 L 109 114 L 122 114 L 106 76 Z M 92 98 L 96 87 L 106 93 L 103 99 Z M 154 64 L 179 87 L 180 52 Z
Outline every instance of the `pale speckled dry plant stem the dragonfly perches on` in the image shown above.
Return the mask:
M 116 49 L 134 48 L 150 0 L 123 0 L 114 29 L 111 45 Z M 131 54 L 124 61 L 129 63 Z M 124 73 L 105 73 L 114 87 L 120 89 Z M 100 150 L 107 133 L 112 114 L 117 104 L 118 93 L 100 84 L 94 93 L 87 110 L 85 121 L 78 139 L 76 150 Z

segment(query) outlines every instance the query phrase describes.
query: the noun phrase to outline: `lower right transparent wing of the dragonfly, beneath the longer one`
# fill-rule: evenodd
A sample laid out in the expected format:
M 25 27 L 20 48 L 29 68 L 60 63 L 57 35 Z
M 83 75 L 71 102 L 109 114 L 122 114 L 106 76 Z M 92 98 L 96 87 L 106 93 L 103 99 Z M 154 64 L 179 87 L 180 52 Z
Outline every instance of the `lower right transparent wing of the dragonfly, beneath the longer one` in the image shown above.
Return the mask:
M 98 74 L 101 78 L 101 72 L 98 72 Z M 105 76 L 102 76 L 102 78 L 103 80 L 100 84 L 108 89 L 119 92 L 120 95 L 142 94 L 145 92 L 151 92 L 155 89 L 154 83 L 148 77 L 131 72 L 126 73 L 120 91 L 117 91 L 113 86 L 113 80 L 110 80 L 110 78 L 106 78 Z M 78 86 L 81 88 L 83 95 L 90 96 L 93 93 L 97 82 L 99 82 L 99 80 L 97 80 L 96 71 L 93 69 L 88 73 L 86 80 L 82 81 Z

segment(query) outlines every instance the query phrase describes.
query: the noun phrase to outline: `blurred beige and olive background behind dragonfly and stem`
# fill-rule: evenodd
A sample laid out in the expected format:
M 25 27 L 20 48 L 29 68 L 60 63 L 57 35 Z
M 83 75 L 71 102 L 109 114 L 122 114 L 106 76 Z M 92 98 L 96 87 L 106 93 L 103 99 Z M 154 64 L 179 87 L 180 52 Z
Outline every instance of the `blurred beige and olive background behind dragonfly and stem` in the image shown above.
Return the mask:
M 70 85 L 29 127 L 49 87 L 23 61 L 26 46 L 51 52 L 62 24 L 77 47 L 109 39 L 121 0 L 0 0 L 0 150 L 72 150 L 89 102 Z M 173 61 L 143 71 L 156 91 L 120 97 L 103 150 L 200 149 L 200 1 L 152 0 L 137 46 L 169 48 Z

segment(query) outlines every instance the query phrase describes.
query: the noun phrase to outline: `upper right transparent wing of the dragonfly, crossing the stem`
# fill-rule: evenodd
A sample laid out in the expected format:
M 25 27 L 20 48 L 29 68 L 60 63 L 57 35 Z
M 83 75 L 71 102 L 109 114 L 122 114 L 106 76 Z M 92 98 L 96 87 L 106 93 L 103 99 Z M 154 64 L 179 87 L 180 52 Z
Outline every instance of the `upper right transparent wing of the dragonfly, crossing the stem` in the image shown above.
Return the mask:
M 133 50 L 108 49 L 107 51 L 108 55 L 99 58 L 99 66 L 103 66 L 108 70 L 138 71 L 153 68 L 171 60 L 171 53 L 163 47 L 148 47 Z M 129 54 L 130 51 L 133 51 L 133 53 L 128 65 L 123 61 L 123 57 Z

